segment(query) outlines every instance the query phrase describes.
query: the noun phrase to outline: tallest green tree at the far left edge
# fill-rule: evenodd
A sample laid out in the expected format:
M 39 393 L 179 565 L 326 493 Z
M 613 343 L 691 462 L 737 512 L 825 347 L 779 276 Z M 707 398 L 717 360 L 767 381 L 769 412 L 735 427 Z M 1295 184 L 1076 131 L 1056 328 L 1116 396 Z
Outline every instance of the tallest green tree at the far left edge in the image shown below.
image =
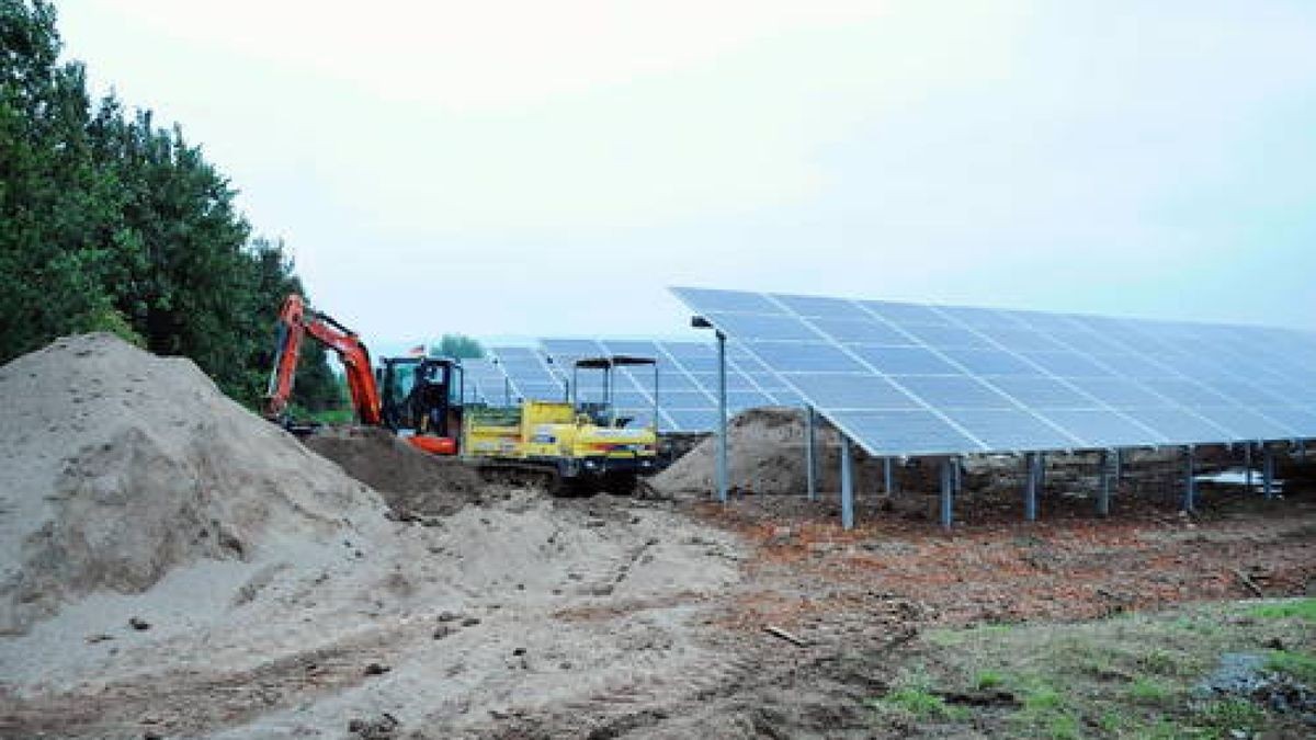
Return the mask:
M 0 357 L 70 332 L 136 338 L 104 277 L 120 205 L 96 166 L 86 75 L 59 65 L 54 9 L 0 0 Z

